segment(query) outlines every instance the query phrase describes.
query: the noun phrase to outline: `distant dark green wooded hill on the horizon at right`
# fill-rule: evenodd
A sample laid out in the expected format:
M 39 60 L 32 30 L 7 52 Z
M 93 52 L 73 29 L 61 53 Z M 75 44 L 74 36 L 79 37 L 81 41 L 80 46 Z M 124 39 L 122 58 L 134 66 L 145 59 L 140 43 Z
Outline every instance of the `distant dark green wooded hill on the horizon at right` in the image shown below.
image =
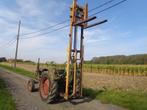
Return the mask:
M 94 57 L 90 61 L 85 61 L 85 63 L 95 63 L 95 64 L 147 64 L 147 54 L 137 54 L 137 55 L 115 55 L 106 57 Z

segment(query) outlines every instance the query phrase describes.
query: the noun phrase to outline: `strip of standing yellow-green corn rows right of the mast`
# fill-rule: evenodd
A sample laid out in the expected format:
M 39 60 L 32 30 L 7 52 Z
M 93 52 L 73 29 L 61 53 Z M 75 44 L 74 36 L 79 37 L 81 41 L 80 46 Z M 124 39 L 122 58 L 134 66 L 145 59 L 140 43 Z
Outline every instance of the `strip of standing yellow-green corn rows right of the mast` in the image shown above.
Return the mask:
M 147 65 L 85 64 L 84 72 L 118 75 L 147 76 Z

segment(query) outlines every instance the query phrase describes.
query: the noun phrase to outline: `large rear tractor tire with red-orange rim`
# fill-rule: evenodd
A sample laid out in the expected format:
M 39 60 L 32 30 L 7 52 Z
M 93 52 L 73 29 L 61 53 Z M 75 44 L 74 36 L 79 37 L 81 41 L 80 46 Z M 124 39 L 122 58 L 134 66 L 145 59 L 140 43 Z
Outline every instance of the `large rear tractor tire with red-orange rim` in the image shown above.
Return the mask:
M 39 93 L 46 103 L 54 103 L 58 97 L 58 82 L 52 79 L 48 71 L 43 71 L 40 78 Z

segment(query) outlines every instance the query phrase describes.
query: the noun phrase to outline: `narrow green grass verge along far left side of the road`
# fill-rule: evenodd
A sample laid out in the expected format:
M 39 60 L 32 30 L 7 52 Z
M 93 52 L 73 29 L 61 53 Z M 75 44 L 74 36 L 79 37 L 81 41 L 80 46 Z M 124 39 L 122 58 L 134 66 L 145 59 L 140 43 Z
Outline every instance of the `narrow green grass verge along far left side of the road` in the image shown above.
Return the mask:
M 25 76 L 31 77 L 31 78 L 34 77 L 34 73 L 32 73 L 30 71 L 27 71 L 25 69 L 22 69 L 22 68 L 18 68 L 18 67 L 17 68 L 13 68 L 13 67 L 10 67 L 10 66 L 4 65 L 4 64 L 0 64 L 0 67 L 2 67 L 4 69 L 7 69 L 9 71 L 12 71 L 12 72 L 21 74 L 21 75 L 25 75 Z

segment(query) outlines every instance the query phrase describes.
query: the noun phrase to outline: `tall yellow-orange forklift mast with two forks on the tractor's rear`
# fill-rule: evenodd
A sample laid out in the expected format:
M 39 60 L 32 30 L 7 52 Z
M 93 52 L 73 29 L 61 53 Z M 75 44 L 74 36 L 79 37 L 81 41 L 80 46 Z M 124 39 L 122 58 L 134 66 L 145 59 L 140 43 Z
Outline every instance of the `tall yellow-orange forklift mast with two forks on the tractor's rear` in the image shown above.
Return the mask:
M 70 97 L 82 97 L 84 30 L 107 22 L 107 20 L 102 20 L 88 25 L 88 22 L 94 19 L 96 19 L 96 16 L 88 16 L 88 4 L 85 6 L 80 6 L 77 4 L 77 0 L 73 0 L 73 4 L 70 8 L 70 33 L 68 44 L 68 58 L 66 65 L 66 84 L 64 95 L 64 98 L 66 100 L 68 100 Z M 69 96 L 69 92 L 71 91 L 69 89 L 70 76 L 73 77 L 73 88 L 72 94 Z M 79 87 L 79 89 L 77 89 L 77 87 Z

